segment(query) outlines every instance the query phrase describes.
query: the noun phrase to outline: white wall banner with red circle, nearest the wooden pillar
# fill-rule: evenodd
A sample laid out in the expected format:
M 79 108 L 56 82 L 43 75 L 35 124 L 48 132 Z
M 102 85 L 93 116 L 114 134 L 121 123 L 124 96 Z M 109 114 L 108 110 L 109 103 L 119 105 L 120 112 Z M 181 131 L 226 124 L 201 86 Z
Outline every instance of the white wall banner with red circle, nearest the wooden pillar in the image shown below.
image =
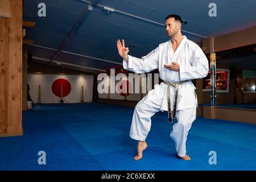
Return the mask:
M 28 74 L 30 96 L 34 103 L 92 102 L 93 76 L 91 75 L 47 75 Z M 40 86 L 39 86 L 40 85 Z

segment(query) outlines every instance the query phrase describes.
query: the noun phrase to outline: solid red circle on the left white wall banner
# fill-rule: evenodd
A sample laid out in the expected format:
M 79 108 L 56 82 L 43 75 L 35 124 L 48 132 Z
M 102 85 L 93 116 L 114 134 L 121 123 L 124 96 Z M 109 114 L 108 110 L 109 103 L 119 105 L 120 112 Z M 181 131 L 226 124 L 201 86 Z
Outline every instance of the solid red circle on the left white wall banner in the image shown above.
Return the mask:
M 52 93 L 57 97 L 61 97 L 61 85 L 62 85 L 62 97 L 68 96 L 71 92 L 71 84 L 64 78 L 59 78 L 52 83 Z

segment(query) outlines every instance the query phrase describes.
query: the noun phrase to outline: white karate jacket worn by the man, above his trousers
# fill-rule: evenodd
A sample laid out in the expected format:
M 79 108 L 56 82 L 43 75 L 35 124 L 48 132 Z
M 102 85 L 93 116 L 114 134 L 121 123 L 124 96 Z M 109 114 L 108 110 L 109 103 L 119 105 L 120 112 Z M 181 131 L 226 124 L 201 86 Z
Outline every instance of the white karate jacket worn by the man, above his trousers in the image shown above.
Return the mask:
M 171 71 L 164 64 L 179 63 L 180 71 Z M 157 48 L 143 56 L 141 59 L 128 55 L 128 63 L 123 60 L 123 68 L 135 73 L 151 72 L 159 70 L 159 77 L 168 82 L 192 80 L 207 76 L 209 71 L 208 59 L 201 48 L 186 36 L 183 36 L 176 51 L 172 49 L 171 40 L 159 44 Z M 148 92 L 148 98 L 155 104 L 161 105 L 160 110 L 168 110 L 167 84 L 156 84 L 155 88 Z M 177 97 L 177 110 L 189 109 L 197 106 L 195 86 L 192 81 L 179 86 Z M 174 87 L 170 88 L 171 109 L 173 110 Z

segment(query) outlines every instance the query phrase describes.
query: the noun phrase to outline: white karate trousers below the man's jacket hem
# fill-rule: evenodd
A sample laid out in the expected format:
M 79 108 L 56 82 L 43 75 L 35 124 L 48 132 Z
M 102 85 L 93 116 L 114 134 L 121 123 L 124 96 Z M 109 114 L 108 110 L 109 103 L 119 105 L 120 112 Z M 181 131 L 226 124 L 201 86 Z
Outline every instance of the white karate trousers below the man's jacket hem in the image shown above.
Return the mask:
M 160 105 L 152 102 L 148 95 L 135 106 L 131 122 L 130 137 L 144 141 L 151 127 L 151 117 L 160 111 Z M 196 119 L 196 107 L 176 111 L 177 123 L 173 126 L 170 137 L 174 140 L 177 155 L 181 158 L 186 154 L 188 131 Z

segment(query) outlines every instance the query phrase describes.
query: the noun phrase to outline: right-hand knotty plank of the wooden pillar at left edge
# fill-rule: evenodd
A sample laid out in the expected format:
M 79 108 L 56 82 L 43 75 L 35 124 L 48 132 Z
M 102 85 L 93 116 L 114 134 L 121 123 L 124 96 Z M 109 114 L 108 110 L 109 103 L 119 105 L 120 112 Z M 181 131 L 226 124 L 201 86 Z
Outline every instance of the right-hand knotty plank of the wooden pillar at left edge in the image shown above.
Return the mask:
M 11 1 L 9 19 L 8 127 L 7 133 L 22 133 L 22 1 Z

